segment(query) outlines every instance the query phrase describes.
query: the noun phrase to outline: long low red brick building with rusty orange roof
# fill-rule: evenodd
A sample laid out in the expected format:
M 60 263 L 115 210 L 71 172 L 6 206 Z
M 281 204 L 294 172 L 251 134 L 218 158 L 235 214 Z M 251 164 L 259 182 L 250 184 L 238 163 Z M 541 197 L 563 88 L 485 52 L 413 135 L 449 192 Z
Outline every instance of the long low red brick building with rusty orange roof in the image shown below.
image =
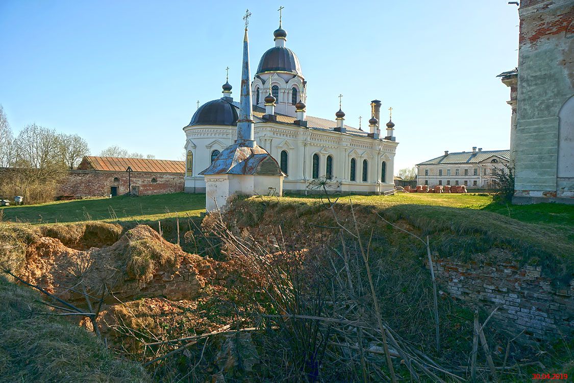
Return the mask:
M 127 169 L 130 171 L 127 171 Z M 183 192 L 184 161 L 85 156 L 62 181 L 62 196 L 117 196 Z

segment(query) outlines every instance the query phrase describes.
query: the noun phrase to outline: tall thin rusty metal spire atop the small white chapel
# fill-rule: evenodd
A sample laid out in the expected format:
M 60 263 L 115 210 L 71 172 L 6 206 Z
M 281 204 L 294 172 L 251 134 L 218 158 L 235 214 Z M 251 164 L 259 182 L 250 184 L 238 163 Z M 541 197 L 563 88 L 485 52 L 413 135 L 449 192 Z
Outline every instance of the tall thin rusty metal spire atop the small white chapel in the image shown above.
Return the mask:
M 241 63 L 241 98 L 239 100 L 239 119 L 237 120 L 236 143 L 244 144 L 253 148 L 255 146 L 253 131 L 253 105 L 251 100 L 251 87 L 249 85 L 251 74 L 249 67 L 249 38 L 247 37 L 247 25 L 249 25 L 249 9 L 245 11 L 245 35 L 243 36 L 243 61 Z

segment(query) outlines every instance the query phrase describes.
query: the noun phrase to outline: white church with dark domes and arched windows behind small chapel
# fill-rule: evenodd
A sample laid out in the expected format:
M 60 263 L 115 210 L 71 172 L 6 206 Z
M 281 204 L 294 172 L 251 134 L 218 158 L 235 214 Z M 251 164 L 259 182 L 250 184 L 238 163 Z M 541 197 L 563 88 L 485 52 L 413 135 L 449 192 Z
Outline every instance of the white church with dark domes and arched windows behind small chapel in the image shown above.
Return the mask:
M 379 128 L 382 103 L 370 103 L 369 129 L 345 125 L 339 105 L 335 121 L 307 115 L 307 80 L 295 53 L 285 46 L 287 32 L 273 32 L 275 46 L 261 57 L 251 82 L 254 138 L 280 164 L 285 192 L 305 192 L 313 179 L 338 181 L 337 192 L 381 194 L 394 188 L 394 123 Z M 199 173 L 236 138 L 239 102 L 231 85 L 223 97 L 200 106 L 185 126 L 185 191 L 205 192 Z

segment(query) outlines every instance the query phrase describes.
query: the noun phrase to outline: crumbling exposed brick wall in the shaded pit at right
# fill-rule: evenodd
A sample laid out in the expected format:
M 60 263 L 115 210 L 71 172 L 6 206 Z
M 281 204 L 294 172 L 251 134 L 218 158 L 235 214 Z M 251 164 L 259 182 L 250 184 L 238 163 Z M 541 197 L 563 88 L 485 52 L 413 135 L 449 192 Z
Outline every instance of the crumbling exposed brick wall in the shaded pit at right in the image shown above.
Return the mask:
M 488 258 L 492 258 L 492 250 Z M 498 250 L 497 255 L 503 254 Z M 506 254 L 509 259 L 511 254 Z M 542 276 L 540 266 L 519 266 L 515 261 L 487 261 L 473 256 L 474 261 L 460 262 L 435 258 L 435 272 L 440 288 L 454 299 L 480 305 L 498 326 L 523 339 L 540 341 L 561 334 L 569 339 L 574 332 L 574 280 L 568 286 L 555 288 L 550 278 Z M 427 265 L 428 266 L 428 265 Z

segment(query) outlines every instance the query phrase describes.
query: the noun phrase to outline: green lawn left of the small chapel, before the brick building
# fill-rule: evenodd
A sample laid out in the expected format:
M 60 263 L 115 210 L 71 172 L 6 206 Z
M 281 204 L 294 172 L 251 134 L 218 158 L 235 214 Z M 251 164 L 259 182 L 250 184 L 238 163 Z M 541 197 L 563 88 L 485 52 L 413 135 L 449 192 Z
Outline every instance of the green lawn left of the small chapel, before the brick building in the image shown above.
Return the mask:
M 186 213 L 199 216 L 205 211 L 204 194 L 174 193 L 140 197 L 118 196 L 58 201 L 29 206 L 0 208 L 4 220 L 27 223 L 80 222 L 152 222 Z

